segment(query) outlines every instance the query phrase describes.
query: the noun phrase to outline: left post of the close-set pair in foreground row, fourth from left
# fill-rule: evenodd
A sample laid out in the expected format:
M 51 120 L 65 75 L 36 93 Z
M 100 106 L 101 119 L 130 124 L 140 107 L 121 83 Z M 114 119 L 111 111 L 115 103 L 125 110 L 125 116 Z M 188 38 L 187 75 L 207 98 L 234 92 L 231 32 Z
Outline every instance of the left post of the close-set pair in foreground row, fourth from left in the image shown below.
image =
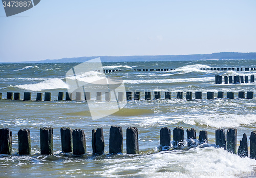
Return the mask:
M 60 128 L 62 152 L 72 152 L 72 132 L 73 129 L 70 127 Z

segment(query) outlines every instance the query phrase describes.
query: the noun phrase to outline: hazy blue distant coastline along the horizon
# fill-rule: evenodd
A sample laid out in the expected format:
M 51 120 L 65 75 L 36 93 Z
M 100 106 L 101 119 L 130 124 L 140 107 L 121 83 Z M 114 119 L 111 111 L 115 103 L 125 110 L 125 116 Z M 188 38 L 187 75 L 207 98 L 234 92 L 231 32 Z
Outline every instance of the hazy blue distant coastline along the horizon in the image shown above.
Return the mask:
M 157 56 L 91 56 L 62 59 L 46 59 L 40 61 L 2 62 L 2 63 L 62 63 L 62 62 L 85 62 L 100 57 L 102 62 L 133 62 L 133 61 L 189 61 L 210 59 L 256 59 L 256 53 L 220 52 L 212 54 L 189 54 L 189 55 L 157 55 Z M 1 62 L 0 62 L 1 63 Z

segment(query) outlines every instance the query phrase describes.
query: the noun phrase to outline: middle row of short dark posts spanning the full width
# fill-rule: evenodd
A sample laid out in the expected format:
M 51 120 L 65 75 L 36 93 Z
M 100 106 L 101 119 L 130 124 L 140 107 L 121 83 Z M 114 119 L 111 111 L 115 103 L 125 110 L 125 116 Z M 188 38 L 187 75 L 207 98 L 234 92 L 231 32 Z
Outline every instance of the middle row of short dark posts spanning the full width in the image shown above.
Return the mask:
M 134 93 L 134 98 L 133 98 Z M 152 100 L 152 93 L 151 92 L 144 92 L 144 100 Z M 105 101 L 111 100 L 111 93 L 105 92 Z M 206 93 L 206 99 L 215 99 L 214 92 L 207 92 Z M 245 97 L 246 94 L 246 97 Z M 203 93 L 202 92 L 195 92 L 195 99 L 203 99 L 202 98 Z M 170 100 L 172 98 L 172 92 L 165 92 L 164 93 L 165 100 Z M 234 92 L 227 92 L 226 98 L 228 99 L 234 99 Z M 58 101 L 63 100 L 64 98 L 64 92 L 58 93 Z M 177 99 L 183 99 L 183 92 L 177 92 L 176 95 Z M 224 92 L 218 92 L 217 98 L 224 98 Z M 238 98 L 246 98 L 246 99 L 253 99 L 253 92 L 238 92 Z M 2 93 L 0 93 L 0 99 L 2 99 Z M 13 99 L 13 93 L 7 92 L 7 99 L 12 100 Z M 126 92 L 126 101 L 132 101 L 132 100 L 140 100 L 141 99 L 141 92 Z M 154 92 L 154 99 L 161 99 L 161 92 Z M 193 99 L 193 92 L 186 92 L 186 99 L 192 100 Z M 20 93 L 14 93 L 14 100 L 20 100 Z M 31 100 L 31 93 L 25 92 L 24 93 L 24 101 L 30 101 Z M 72 100 L 72 93 L 66 92 L 66 100 Z M 81 101 L 82 100 L 82 93 L 76 92 L 75 100 Z M 91 93 L 85 92 L 84 93 L 84 100 L 88 101 L 91 100 Z M 102 93 L 96 92 L 96 100 L 102 100 Z M 118 92 L 117 96 L 118 101 L 124 100 L 124 92 Z M 42 93 L 36 94 L 36 101 L 42 101 Z M 51 101 L 51 93 L 45 92 L 45 100 L 44 101 Z

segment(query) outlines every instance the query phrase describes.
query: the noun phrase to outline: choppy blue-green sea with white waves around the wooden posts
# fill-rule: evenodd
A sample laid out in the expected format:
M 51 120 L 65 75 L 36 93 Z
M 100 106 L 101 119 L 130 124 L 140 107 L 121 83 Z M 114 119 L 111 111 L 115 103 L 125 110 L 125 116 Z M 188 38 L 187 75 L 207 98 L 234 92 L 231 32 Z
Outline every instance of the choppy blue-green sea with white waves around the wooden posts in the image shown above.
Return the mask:
M 215 130 L 219 128 L 237 129 L 237 148 L 243 133 L 249 146 L 250 133 L 256 130 L 256 82 L 215 84 L 215 75 L 250 76 L 256 75 L 256 71 L 200 70 L 255 68 L 256 59 L 102 62 L 104 69 L 120 70 L 105 73 L 106 77 L 121 78 L 125 90 L 141 92 L 141 98 L 128 101 L 118 112 L 98 119 L 92 118 L 87 101 L 58 101 L 58 93 L 66 93 L 70 88 L 66 73 L 78 64 L 0 63 L 0 128 L 7 127 L 13 134 L 12 155 L 0 155 L 0 177 L 256 177 L 256 160 L 240 158 L 215 145 Z M 102 73 L 92 71 L 77 78 L 91 81 L 101 77 Z M 160 92 L 161 99 L 144 100 L 145 91 Z M 224 98 L 217 98 L 219 91 L 224 92 Z M 254 99 L 238 99 L 239 91 L 254 92 Z M 6 100 L 7 92 L 20 93 L 20 100 Z M 24 92 L 32 93 L 32 101 L 23 101 Z M 45 92 L 51 92 L 52 101 L 35 101 L 36 93 Z M 172 99 L 164 100 L 165 92 L 171 92 Z M 177 92 L 184 93 L 183 99 L 176 99 Z M 186 92 L 193 92 L 192 100 L 185 99 Z M 203 99 L 195 100 L 195 92 L 202 92 Z M 215 99 L 206 99 L 207 92 L 214 92 Z M 226 92 L 234 92 L 234 99 L 227 99 Z M 95 106 L 116 102 L 92 97 Z M 112 125 L 123 130 L 123 152 L 116 155 L 109 154 Z M 170 128 L 173 143 L 173 129 L 177 126 L 185 130 L 184 147 L 160 151 L 160 129 Z M 53 128 L 53 155 L 40 154 L 41 127 Z M 86 154 L 61 151 L 61 127 L 84 130 Z M 103 128 L 105 151 L 103 155 L 93 155 L 92 129 L 99 127 Z M 139 154 L 126 154 L 128 127 L 138 128 Z M 22 128 L 30 129 L 31 155 L 18 154 L 17 132 Z M 188 148 L 188 128 L 196 129 L 197 138 L 200 130 L 207 130 L 208 143 Z

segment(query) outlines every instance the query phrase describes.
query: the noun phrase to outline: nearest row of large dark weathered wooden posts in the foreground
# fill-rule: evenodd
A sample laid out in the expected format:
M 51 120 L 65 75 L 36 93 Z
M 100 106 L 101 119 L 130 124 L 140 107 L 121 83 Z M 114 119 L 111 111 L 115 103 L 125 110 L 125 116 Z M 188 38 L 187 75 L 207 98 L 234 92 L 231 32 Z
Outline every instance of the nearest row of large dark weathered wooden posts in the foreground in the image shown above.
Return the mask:
M 197 140 L 196 129 L 187 129 L 187 146 L 195 147 L 198 144 L 208 143 L 208 133 L 206 130 L 199 132 Z M 81 129 L 72 129 L 69 127 L 60 128 L 61 150 L 64 153 L 73 152 L 75 155 L 81 155 L 87 152 L 86 136 Z M 12 154 L 12 131 L 9 128 L 0 129 L 0 154 Z M 247 136 L 244 133 L 237 151 L 237 129 L 228 128 L 227 134 L 225 129 L 217 129 L 215 132 L 216 146 L 223 147 L 229 152 L 237 154 L 240 157 L 248 157 Z M 173 147 L 171 145 L 171 130 L 163 127 L 160 130 L 160 150 L 179 149 L 185 146 L 184 129 L 176 127 L 173 130 Z M 104 136 L 103 129 L 97 128 L 92 130 L 92 149 L 93 154 L 104 153 Z M 109 153 L 117 154 L 123 152 L 123 132 L 120 126 L 111 126 L 109 138 Z M 40 128 L 40 153 L 53 154 L 53 128 Z M 138 154 L 138 129 L 128 127 L 126 129 L 126 153 Z M 20 129 L 18 131 L 18 154 L 31 154 L 30 130 Z M 256 131 L 250 135 L 250 158 L 256 159 Z

